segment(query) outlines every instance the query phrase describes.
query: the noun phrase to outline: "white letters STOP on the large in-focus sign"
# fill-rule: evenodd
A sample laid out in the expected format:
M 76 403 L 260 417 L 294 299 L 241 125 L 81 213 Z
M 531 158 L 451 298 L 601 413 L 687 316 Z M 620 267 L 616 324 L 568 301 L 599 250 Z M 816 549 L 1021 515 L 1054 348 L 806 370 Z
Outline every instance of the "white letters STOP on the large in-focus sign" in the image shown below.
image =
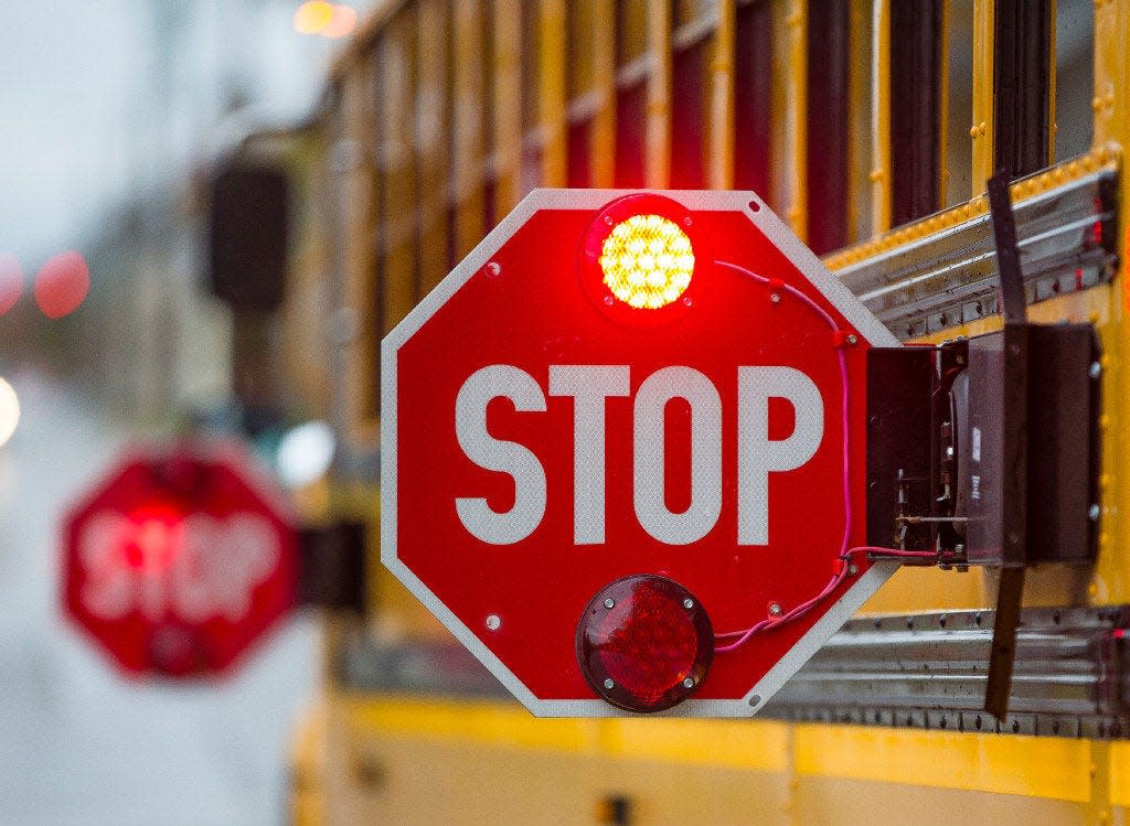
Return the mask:
M 768 541 L 768 476 L 796 470 L 816 453 L 824 435 L 824 403 L 816 384 L 793 367 L 739 366 L 738 382 L 738 544 Z M 573 542 L 605 542 L 605 406 L 627 397 L 629 365 L 550 365 L 549 394 L 570 397 L 573 431 Z M 514 479 L 514 505 L 504 513 L 485 498 L 457 498 L 459 520 L 484 542 L 511 545 L 529 537 L 546 511 L 541 461 L 514 442 L 490 436 L 487 406 L 507 399 L 515 410 L 546 409 L 533 377 L 512 365 L 476 371 L 455 399 L 455 432 L 468 459 Z M 768 437 L 768 401 L 792 405 L 796 426 L 788 438 Z M 666 490 L 666 409 L 681 399 L 690 414 L 690 504 L 672 512 Z M 633 502 L 641 527 L 668 545 L 689 545 L 706 536 L 722 512 L 722 402 L 713 382 L 693 367 L 663 367 L 640 385 L 633 403 Z

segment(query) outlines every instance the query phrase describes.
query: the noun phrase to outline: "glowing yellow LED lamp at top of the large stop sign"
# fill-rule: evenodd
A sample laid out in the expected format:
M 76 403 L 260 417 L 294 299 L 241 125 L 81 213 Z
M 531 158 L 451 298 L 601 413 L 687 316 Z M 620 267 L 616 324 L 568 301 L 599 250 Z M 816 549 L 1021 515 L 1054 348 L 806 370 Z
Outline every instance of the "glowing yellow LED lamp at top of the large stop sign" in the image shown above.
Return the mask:
M 605 286 L 637 310 L 678 301 L 695 269 L 690 238 L 659 215 L 633 215 L 615 227 L 600 250 Z

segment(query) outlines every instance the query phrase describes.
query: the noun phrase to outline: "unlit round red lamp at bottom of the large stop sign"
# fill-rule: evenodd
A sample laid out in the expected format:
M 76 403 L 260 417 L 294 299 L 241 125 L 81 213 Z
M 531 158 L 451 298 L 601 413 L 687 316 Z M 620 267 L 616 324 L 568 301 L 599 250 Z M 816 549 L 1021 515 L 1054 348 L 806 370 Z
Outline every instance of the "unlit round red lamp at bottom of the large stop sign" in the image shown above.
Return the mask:
M 626 711 L 678 705 L 702 684 L 713 653 L 706 611 L 666 576 L 638 574 L 606 585 L 577 625 L 581 672 L 597 694 Z

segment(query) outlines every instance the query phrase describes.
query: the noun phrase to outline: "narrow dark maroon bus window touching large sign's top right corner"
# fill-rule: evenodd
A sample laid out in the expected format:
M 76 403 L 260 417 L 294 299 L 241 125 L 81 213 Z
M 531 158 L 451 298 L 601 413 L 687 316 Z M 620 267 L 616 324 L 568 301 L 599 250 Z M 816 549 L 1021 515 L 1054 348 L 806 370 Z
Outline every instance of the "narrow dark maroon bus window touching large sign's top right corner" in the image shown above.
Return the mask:
M 773 5 L 739 3 L 734 28 L 733 186 L 753 190 L 772 206 Z

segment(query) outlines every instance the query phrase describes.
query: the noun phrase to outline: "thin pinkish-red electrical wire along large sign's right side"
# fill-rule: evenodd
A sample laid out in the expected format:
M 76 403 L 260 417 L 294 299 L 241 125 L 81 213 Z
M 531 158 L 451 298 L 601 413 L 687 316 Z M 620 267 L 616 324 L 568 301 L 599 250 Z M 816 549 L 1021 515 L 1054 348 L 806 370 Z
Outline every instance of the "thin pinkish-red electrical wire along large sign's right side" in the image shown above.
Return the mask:
M 851 572 L 851 567 L 852 567 L 851 557 L 852 557 L 853 554 L 866 553 L 866 554 L 869 554 L 869 555 L 871 555 L 872 557 L 876 557 L 876 558 L 884 558 L 885 557 L 885 558 L 894 558 L 894 559 L 901 559 L 901 558 L 922 558 L 922 559 L 933 558 L 933 559 L 938 559 L 938 558 L 941 558 L 941 556 L 939 554 L 936 554 L 932 550 L 903 550 L 903 549 L 899 549 L 899 548 L 879 548 L 879 547 L 871 547 L 871 546 L 861 546 L 861 547 L 857 547 L 857 548 L 849 548 L 847 547 L 849 542 L 851 541 L 852 508 L 851 508 L 851 464 L 849 462 L 849 459 L 850 459 L 850 450 L 849 450 L 850 449 L 850 442 L 849 442 L 849 437 L 847 437 L 847 426 L 849 426 L 849 418 L 847 418 L 847 399 L 849 399 L 849 395 L 847 395 L 847 357 L 846 357 L 846 355 L 844 353 L 844 349 L 845 349 L 845 345 L 850 341 L 850 339 L 844 333 L 844 331 L 842 331 L 840 329 L 840 327 L 836 324 L 836 322 L 832 318 L 832 315 L 828 314 L 828 312 L 826 310 L 824 310 L 824 307 L 822 307 L 819 304 L 817 304 L 815 301 L 812 301 L 810 297 L 808 297 L 807 295 L 805 295 L 802 292 L 800 292 L 799 289 L 797 289 L 792 285 L 785 284 L 784 281 L 781 281 L 781 280 L 775 279 L 775 278 L 766 278 L 765 276 L 760 276 L 760 275 L 758 275 L 756 272 L 747 270 L 745 267 L 740 267 L 738 264 L 730 263 L 728 261 L 715 261 L 714 263 L 716 266 L 719 266 L 719 267 L 725 267 L 727 269 L 733 270 L 734 272 L 739 272 L 739 273 L 741 273 L 744 276 L 747 276 L 748 278 L 754 279 L 758 284 L 763 284 L 763 285 L 765 285 L 767 287 L 771 287 L 772 289 L 777 290 L 779 295 L 780 295 L 780 293 L 783 292 L 783 293 L 788 293 L 789 295 L 791 295 L 791 296 L 793 296 L 796 298 L 799 298 L 802 304 L 805 304 L 810 310 L 812 310 L 814 312 L 816 312 L 816 314 L 819 315 L 825 321 L 825 323 L 827 323 L 827 325 L 832 329 L 833 344 L 834 344 L 834 346 L 836 348 L 836 353 L 837 353 L 837 355 L 840 357 L 840 383 L 841 383 L 841 406 L 840 406 L 841 416 L 840 416 L 840 420 L 841 420 L 841 432 L 843 433 L 844 532 L 843 532 L 843 540 L 840 544 L 840 554 L 837 556 L 837 559 L 840 562 L 838 569 L 832 576 L 832 579 L 828 581 L 828 584 L 824 586 L 824 590 L 822 590 L 818 594 L 816 594 L 815 597 L 812 597 L 808 601 L 802 602 L 801 605 L 797 606 L 792 610 L 790 610 L 790 611 L 788 611 L 785 614 L 782 614 L 779 617 L 772 617 L 772 618 L 768 618 L 768 619 L 763 619 L 759 623 L 756 623 L 755 625 L 753 625 L 749 628 L 746 628 L 744 631 L 731 631 L 731 632 L 723 632 L 723 633 L 720 633 L 720 634 L 715 634 L 714 635 L 715 640 L 728 640 L 728 638 L 737 637 L 737 640 L 734 642 L 729 643 L 727 645 L 715 645 L 714 652 L 721 654 L 721 653 L 725 653 L 728 651 L 734 651 L 736 649 L 739 649 L 740 646 L 745 645 L 749 641 L 749 638 L 751 636 L 754 636 L 755 634 L 757 634 L 757 633 L 759 633 L 762 631 L 765 631 L 766 628 L 777 628 L 777 627 L 780 627 L 782 625 L 786 625 L 786 624 L 789 624 L 789 623 L 791 623 L 791 621 L 793 621 L 796 619 L 799 619 L 805 614 L 807 614 L 808 611 L 810 611 L 815 606 L 817 606 L 819 602 L 822 602 L 826 597 L 828 597 L 829 594 L 832 594 L 843 583 L 844 579 L 846 579 L 847 574 Z

